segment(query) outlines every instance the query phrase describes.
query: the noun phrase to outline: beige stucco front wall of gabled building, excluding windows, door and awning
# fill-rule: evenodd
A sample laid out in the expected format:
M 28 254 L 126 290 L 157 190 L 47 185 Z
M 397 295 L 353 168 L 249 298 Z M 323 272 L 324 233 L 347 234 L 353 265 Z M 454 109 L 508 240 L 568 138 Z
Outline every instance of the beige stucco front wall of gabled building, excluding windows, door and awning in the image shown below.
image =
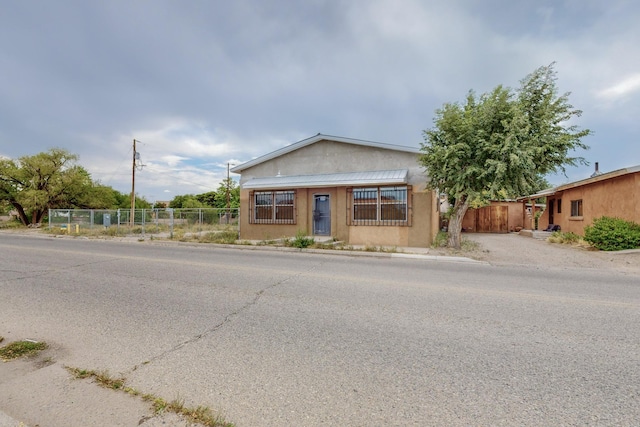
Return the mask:
M 242 184 L 252 178 L 391 169 L 409 169 L 407 179 L 412 185 L 410 227 L 347 225 L 350 201 L 346 187 L 296 189 L 296 224 L 249 224 L 250 191 L 242 188 Z M 331 201 L 331 236 L 337 240 L 352 245 L 426 247 L 438 230 L 435 195 L 426 190 L 426 179 L 415 153 L 319 141 L 242 171 L 240 238 L 269 240 L 292 237 L 298 231 L 311 235 L 314 196 L 327 194 Z

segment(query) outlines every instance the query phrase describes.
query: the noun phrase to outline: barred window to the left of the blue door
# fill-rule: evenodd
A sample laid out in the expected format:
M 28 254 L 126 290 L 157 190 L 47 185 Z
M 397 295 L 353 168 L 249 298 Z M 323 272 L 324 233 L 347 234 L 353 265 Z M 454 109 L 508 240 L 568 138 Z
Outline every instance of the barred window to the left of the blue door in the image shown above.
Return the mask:
M 256 191 L 251 196 L 254 224 L 295 224 L 295 191 Z

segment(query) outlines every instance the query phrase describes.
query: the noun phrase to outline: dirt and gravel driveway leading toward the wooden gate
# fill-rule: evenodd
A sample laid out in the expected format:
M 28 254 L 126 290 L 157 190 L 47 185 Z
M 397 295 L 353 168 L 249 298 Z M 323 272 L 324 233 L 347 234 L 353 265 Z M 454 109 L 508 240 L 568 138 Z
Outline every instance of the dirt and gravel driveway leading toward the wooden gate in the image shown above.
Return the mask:
M 517 233 L 465 233 L 464 238 L 479 247 L 466 253 L 474 259 L 496 265 L 590 268 L 640 273 L 640 250 L 604 252 L 579 246 L 549 243 Z

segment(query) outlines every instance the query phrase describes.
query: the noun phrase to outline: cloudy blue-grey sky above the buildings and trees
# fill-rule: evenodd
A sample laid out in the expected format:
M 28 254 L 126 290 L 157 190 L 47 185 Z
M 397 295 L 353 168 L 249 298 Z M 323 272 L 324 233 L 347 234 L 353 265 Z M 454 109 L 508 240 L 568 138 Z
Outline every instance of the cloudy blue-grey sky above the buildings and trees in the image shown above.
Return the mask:
M 640 164 L 635 0 L 0 0 L 0 156 L 52 147 L 149 201 L 318 132 L 419 147 L 445 102 L 556 62 L 594 131 L 568 178 Z

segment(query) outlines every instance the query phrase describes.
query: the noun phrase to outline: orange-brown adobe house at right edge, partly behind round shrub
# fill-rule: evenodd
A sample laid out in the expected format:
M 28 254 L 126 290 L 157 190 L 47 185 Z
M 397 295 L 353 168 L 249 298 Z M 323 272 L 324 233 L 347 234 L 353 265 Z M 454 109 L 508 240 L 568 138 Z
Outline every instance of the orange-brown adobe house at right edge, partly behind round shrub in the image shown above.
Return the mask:
M 563 184 L 519 200 L 547 198 L 547 209 L 538 229 L 549 224 L 562 231 L 584 235 L 584 228 L 602 216 L 617 217 L 640 223 L 640 165 L 600 173 L 590 178 Z

